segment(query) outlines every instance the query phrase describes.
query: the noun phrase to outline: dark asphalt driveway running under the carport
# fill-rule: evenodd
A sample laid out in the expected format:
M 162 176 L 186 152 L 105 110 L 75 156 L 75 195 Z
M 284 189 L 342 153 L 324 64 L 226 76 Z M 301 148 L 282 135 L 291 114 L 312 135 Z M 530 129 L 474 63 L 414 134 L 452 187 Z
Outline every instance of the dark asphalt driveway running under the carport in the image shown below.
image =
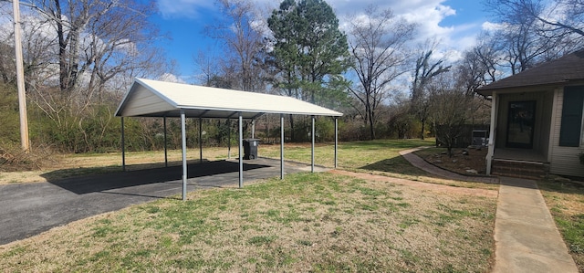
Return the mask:
M 219 161 L 188 166 L 188 191 L 236 187 L 239 163 Z M 181 194 L 183 166 L 74 177 L 48 183 L 0 185 L 0 245 L 35 236 L 55 226 Z M 245 183 L 279 177 L 279 160 L 245 161 Z M 285 162 L 286 173 L 309 172 L 310 165 Z M 316 172 L 326 171 L 315 168 Z M 177 201 L 180 197 L 177 198 Z

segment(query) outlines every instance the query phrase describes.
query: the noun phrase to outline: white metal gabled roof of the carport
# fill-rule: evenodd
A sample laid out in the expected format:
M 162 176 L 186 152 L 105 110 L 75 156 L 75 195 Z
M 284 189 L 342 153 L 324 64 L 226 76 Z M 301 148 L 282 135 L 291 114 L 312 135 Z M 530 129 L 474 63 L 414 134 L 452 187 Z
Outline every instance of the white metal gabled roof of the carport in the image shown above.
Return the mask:
M 189 117 L 244 119 L 265 113 L 339 117 L 343 114 L 290 97 L 217 89 L 151 79 L 135 79 L 116 111 L 118 117 Z

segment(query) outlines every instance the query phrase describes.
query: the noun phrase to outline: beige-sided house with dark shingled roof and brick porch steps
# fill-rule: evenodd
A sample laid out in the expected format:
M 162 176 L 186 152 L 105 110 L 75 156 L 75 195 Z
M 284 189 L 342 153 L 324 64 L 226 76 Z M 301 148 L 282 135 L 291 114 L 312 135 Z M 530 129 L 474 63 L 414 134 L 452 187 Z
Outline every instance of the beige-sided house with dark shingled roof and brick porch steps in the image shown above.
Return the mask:
M 487 174 L 584 176 L 584 49 L 477 92 L 492 98 Z

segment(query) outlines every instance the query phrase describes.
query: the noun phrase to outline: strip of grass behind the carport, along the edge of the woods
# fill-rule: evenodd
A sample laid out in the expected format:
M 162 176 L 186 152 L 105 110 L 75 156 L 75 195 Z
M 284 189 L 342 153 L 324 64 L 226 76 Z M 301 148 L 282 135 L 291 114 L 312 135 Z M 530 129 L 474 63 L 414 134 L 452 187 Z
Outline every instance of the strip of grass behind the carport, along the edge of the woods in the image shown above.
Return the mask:
M 339 144 L 339 167 L 350 170 L 395 171 L 396 174 L 409 175 L 415 178 L 427 173 L 413 167 L 401 158 L 401 150 L 414 147 L 432 145 L 433 140 L 381 140 L 373 142 L 343 142 Z M 200 154 L 198 148 L 187 149 L 189 163 L 198 163 Z M 334 146 L 330 143 L 318 144 L 315 148 L 315 160 L 318 165 L 333 167 Z M 259 156 L 280 158 L 279 145 L 259 145 Z M 232 147 L 232 158 L 238 156 L 237 147 Z M 285 159 L 303 163 L 310 163 L 310 144 L 286 143 Z M 203 147 L 203 160 L 215 161 L 227 158 L 225 147 Z M 180 150 L 168 151 L 169 165 L 182 164 Z M 121 172 L 121 153 L 94 153 L 94 154 L 62 154 L 56 155 L 52 167 L 31 172 L 0 173 L 0 184 L 46 182 L 47 179 L 88 175 L 96 173 Z M 160 168 L 164 166 L 164 152 L 126 152 L 128 170 L 146 168 Z M 406 177 L 407 178 L 407 177 Z

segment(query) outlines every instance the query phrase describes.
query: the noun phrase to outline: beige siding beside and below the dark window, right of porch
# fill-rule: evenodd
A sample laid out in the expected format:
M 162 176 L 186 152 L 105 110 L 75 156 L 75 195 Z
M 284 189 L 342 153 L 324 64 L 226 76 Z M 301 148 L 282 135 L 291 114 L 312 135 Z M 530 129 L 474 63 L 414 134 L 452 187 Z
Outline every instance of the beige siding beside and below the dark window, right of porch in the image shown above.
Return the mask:
M 552 160 L 549 168 L 549 173 L 584 176 L 584 165 L 579 163 L 579 154 L 584 152 L 582 146 L 580 147 L 560 147 L 559 146 L 559 129 L 561 126 L 562 104 L 564 102 L 563 89 L 558 90 L 558 100 L 556 107 L 556 121 L 552 122 L 553 133 L 553 147 Z

